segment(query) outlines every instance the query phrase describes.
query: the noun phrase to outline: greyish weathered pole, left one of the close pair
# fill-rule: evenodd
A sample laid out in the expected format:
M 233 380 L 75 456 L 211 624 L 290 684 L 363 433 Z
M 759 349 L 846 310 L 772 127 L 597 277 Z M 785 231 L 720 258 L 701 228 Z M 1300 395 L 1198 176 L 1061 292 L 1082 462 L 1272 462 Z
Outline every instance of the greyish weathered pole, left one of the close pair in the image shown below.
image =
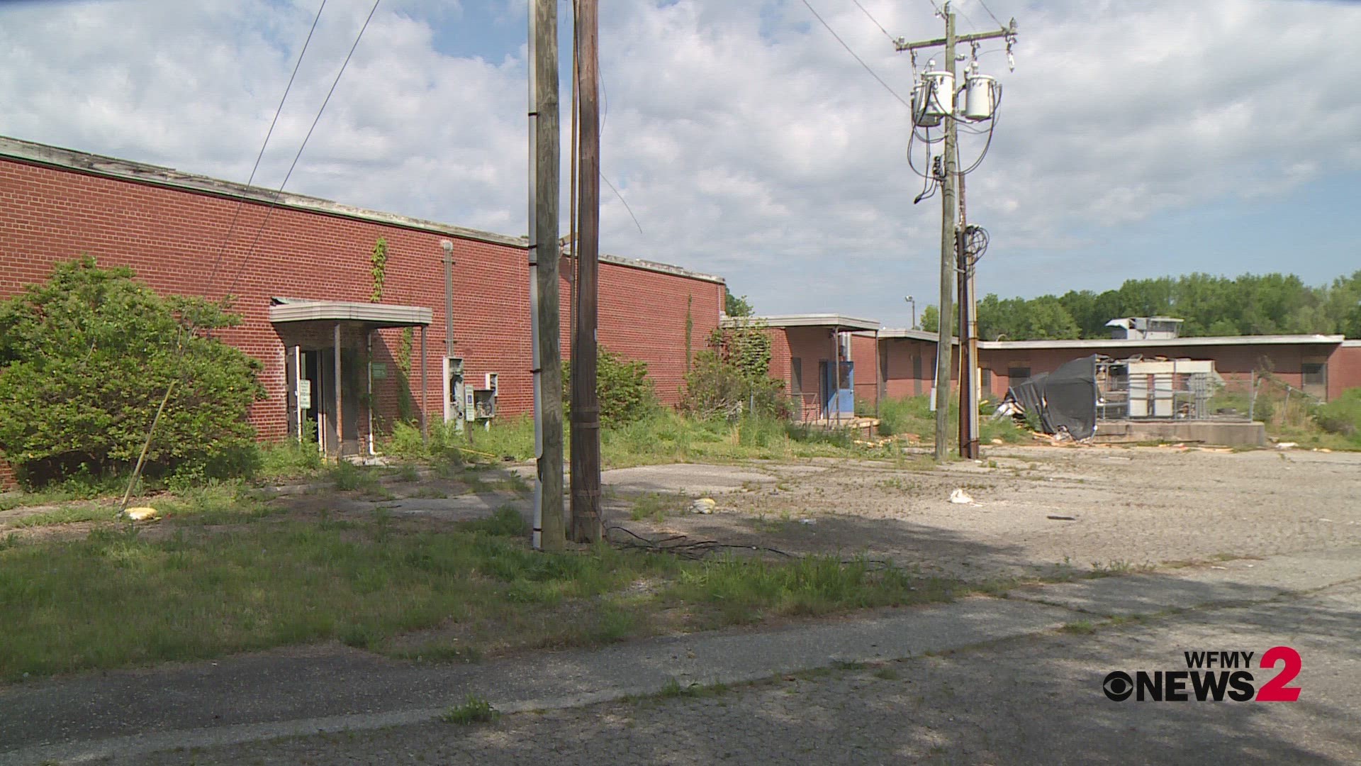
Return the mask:
M 529 8 L 529 324 L 534 373 L 534 547 L 559 551 L 562 350 L 558 345 L 558 4 Z

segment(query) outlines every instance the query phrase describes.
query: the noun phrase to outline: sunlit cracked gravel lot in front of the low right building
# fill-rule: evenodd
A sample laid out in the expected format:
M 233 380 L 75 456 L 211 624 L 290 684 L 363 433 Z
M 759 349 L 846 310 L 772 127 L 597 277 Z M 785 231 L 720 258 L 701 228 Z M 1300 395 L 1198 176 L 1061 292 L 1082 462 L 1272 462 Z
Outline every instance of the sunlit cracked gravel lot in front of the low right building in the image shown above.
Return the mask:
M 788 552 L 864 551 L 965 578 L 1361 544 L 1358 453 L 994 447 L 938 470 L 762 468 L 769 481 L 716 495 L 713 515 L 622 523 Z M 976 503 L 950 503 L 955 488 Z

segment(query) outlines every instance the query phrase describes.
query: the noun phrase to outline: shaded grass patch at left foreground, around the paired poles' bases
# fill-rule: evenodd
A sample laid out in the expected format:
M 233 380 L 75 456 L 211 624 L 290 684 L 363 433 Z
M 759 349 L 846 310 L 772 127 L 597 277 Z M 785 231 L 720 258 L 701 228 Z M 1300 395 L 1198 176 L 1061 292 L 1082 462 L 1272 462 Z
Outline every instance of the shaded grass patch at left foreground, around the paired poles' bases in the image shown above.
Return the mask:
M 105 523 L 83 537 L 0 538 L 0 679 L 320 641 L 468 661 L 973 590 L 860 559 L 535 552 L 510 506 L 438 533 L 382 508 L 291 518 L 231 484 L 155 507 L 165 519 L 154 533 Z M 450 624 L 470 639 L 395 641 Z

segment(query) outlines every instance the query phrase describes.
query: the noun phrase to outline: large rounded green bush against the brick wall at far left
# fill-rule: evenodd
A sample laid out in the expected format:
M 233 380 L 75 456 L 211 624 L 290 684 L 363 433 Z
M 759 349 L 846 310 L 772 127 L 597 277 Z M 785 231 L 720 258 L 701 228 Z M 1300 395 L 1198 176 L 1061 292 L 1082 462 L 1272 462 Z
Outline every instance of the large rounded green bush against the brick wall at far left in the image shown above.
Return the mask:
M 260 363 L 195 330 L 240 318 L 158 296 L 93 258 L 0 301 L 0 451 L 27 484 L 131 468 L 166 388 L 148 473 L 212 478 L 252 461 Z M 256 451 L 256 458 L 259 453 Z

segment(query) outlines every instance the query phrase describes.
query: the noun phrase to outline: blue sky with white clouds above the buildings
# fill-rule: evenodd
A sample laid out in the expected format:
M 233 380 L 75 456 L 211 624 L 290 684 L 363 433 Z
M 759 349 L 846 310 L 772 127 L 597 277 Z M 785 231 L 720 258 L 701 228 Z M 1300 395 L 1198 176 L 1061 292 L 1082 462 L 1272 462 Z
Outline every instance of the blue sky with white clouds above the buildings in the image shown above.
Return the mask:
M 987 1 L 1021 35 L 1014 72 L 995 44 L 980 60 L 1006 87 L 968 179 L 981 292 L 1361 269 L 1361 4 Z M 942 29 L 927 0 L 862 0 L 874 20 L 810 3 L 901 95 L 912 63 L 874 20 Z M 0 134 L 244 181 L 318 4 L 0 1 Z M 257 183 L 282 180 L 370 4 L 327 1 Z M 525 25 L 525 0 L 384 0 L 289 191 L 523 234 Z M 802 0 L 604 3 L 602 71 L 603 168 L 638 219 L 602 189 L 607 252 L 721 274 L 769 313 L 902 326 L 902 296 L 936 294 L 906 109 Z

